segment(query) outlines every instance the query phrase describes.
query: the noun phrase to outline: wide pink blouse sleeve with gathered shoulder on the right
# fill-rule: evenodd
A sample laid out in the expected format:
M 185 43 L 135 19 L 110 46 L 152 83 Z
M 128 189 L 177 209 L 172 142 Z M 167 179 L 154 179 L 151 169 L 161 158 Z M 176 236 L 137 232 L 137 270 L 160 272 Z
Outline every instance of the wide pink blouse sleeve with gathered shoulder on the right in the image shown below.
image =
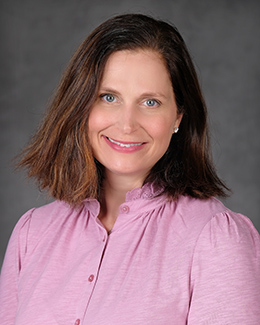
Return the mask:
M 233 212 L 216 215 L 194 251 L 188 325 L 260 324 L 260 236 Z

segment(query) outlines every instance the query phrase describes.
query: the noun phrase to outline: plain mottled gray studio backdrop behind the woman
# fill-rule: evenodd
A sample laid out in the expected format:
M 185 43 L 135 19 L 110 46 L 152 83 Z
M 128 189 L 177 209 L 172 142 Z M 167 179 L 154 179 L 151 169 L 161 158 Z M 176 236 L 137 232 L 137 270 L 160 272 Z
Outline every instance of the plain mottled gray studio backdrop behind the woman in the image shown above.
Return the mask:
M 76 47 L 105 19 L 142 12 L 176 24 L 196 63 L 209 107 L 225 204 L 260 229 L 258 0 L 2 0 L 0 265 L 11 230 L 48 201 L 12 159 L 28 142 Z

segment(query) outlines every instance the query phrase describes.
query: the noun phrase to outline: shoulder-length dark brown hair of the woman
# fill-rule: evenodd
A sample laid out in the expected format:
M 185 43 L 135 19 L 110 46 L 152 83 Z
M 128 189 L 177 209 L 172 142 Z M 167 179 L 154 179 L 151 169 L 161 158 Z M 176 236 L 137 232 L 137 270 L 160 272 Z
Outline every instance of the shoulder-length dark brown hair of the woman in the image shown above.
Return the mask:
M 22 153 L 19 167 L 28 168 L 41 189 L 72 205 L 99 198 L 104 172 L 95 160 L 87 123 L 105 64 L 122 50 L 152 50 L 169 71 L 180 130 L 144 184 L 153 182 L 172 198 L 226 196 L 211 160 L 207 109 L 197 74 L 183 38 L 175 26 L 142 14 L 113 17 L 98 26 L 72 57 L 45 119 Z

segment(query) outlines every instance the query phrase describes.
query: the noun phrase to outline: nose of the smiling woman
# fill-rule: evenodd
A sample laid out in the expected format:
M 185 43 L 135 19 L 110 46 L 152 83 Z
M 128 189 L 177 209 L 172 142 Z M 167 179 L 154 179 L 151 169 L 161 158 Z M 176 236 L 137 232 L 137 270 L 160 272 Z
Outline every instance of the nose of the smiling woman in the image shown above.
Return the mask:
M 131 134 L 139 125 L 139 112 L 134 104 L 122 105 L 118 118 L 118 126 L 125 134 Z

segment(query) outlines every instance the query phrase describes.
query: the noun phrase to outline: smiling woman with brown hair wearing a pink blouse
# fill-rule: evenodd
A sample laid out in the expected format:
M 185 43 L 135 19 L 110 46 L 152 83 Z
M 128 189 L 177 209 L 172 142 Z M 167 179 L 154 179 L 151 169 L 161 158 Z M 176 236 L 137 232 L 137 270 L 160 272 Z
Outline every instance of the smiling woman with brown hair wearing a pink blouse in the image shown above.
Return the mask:
M 1 324 L 259 324 L 259 234 L 215 198 L 206 120 L 175 27 L 97 27 L 20 162 L 56 201 L 15 227 Z

